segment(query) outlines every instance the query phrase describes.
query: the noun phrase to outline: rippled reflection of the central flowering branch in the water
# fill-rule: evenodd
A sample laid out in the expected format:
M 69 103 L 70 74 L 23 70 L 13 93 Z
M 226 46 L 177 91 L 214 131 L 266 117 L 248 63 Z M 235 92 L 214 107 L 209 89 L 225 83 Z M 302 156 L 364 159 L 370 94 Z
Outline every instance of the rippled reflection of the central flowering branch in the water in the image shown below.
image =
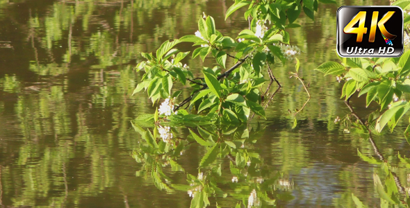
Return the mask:
M 248 130 L 245 125 L 203 125 L 187 131 L 166 123 L 151 125 L 149 123 L 154 121 L 143 117 L 145 119 L 133 122 L 134 129 L 141 135 L 140 146 L 133 151 L 133 158 L 142 164 L 136 175 L 151 180 L 167 193 L 187 193 L 191 198 L 190 207 L 208 207 L 211 203 L 218 207 L 231 207 L 232 203 L 236 207 L 249 208 L 274 206 L 275 198 L 289 195 L 288 191 L 293 189 L 293 181 L 279 179 L 281 173 L 264 165 L 254 148 L 264 128 Z M 149 129 L 153 127 L 151 134 Z M 197 159 L 197 176 L 178 163 L 184 157 L 181 153 L 193 147 L 204 150 L 198 151 L 202 158 Z M 170 164 L 171 168 L 159 164 Z M 172 172 L 185 173 L 186 183 L 172 180 Z

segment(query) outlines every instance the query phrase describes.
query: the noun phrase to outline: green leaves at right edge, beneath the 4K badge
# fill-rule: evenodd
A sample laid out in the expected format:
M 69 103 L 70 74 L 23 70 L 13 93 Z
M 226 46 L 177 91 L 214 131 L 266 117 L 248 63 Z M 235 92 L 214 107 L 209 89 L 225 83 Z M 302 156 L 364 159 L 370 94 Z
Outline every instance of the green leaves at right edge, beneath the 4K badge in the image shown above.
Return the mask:
M 396 1 L 393 6 L 407 8 L 407 1 Z M 410 15 L 404 12 L 404 39 L 409 38 Z M 405 42 L 408 44 L 408 41 Z M 340 58 L 341 63 L 328 61 L 315 70 L 334 75 L 340 83 L 344 80 L 342 95 L 349 101 L 356 92 L 357 96 L 366 95 L 366 107 L 375 102 L 379 110 L 369 116 L 368 126 L 381 132 L 387 125 L 391 131 L 402 116 L 410 109 L 406 94 L 410 94 L 410 51 L 400 58 Z M 379 114 L 374 117 L 373 115 Z M 405 130 L 408 134 L 410 125 Z

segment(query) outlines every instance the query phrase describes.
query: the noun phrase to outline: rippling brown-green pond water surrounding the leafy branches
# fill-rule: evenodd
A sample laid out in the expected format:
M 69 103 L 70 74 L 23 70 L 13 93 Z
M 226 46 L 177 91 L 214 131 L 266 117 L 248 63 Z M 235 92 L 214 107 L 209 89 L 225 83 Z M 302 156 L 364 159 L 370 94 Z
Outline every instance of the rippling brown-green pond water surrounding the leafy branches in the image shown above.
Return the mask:
M 386 1 L 320 4 L 315 21 L 302 14 L 301 27 L 288 30 L 302 51 L 300 74 L 312 96 L 295 128 L 288 110 L 300 109 L 307 96 L 288 77 L 295 68 L 290 62 L 274 66 L 282 88 L 266 119 L 255 116 L 245 126 L 218 130 L 175 126 L 180 152 L 167 150 L 165 142 L 167 151 L 150 152 L 141 129 L 154 130 L 134 119 L 158 105 L 144 92 L 131 96 L 142 78 L 133 69 L 143 60 L 140 52 L 194 34 L 202 12 L 215 18 L 218 31 L 235 37 L 247 21 L 243 12 L 224 21 L 231 3 L 0 0 L 0 207 L 190 207 L 191 196 L 207 196 L 209 207 L 356 207 L 353 196 L 366 207 L 392 207 L 375 184 L 390 177 L 388 164 L 402 194 L 410 189 L 410 165 L 397 156 L 410 157 L 402 135 L 407 116 L 394 132 L 366 139 L 351 125 L 334 122 L 350 115 L 340 98 L 343 83 L 313 71 L 338 61 L 338 6 Z M 192 50 L 190 44 L 178 47 Z M 215 64 L 211 58 L 183 62 L 192 73 Z M 363 119 L 377 109 L 366 108 L 363 97 L 354 96 L 351 104 Z M 245 142 L 199 168 L 210 147 L 192 142 L 190 130 Z M 375 160 L 382 155 L 385 166 L 364 161 L 358 150 Z M 242 168 L 233 168 L 240 162 Z

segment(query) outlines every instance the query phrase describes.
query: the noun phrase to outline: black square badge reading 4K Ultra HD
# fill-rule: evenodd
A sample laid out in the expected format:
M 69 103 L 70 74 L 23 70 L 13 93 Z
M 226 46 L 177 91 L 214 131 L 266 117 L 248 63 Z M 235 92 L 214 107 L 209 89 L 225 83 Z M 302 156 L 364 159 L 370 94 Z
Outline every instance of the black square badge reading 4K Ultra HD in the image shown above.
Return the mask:
M 341 6 L 337 36 L 337 52 L 342 57 L 399 57 L 403 11 L 398 6 Z

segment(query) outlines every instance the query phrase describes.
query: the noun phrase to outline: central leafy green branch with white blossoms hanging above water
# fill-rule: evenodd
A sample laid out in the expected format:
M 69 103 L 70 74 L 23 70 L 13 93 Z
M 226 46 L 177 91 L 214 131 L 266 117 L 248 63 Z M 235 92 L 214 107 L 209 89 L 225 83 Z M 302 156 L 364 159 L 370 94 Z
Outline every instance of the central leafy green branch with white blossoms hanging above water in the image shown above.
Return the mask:
M 161 105 L 159 114 L 170 120 L 175 118 L 170 116 L 171 112 L 179 114 L 176 110 L 188 103 L 190 112 L 215 117 L 216 121 L 244 123 L 251 112 L 265 117 L 265 110 L 261 107 L 264 94 L 260 89 L 266 81 L 263 73 L 268 71 L 271 82 L 276 80 L 270 64 L 285 64 L 286 60 L 293 60 L 300 53 L 297 46 L 286 45 L 289 44 L 290 35 L 285 28 L 299 26 L 293 22 L 302 9 L 308 17 L 314 19 L 313 12 L 318 10 L 318 1 L 235 1 L 227 10 L 225 19 L 245 6 L 245 19 L 249 20 L 249 28 L 238 34 L 238 41 L 222 35 L 216 29 L 213 17 L 204 14 L 198 21 L 195 35 L 167 40 L 155 54 L 141 53 L 146 61 L 139 62 L 136 70 L 145 73 L 133 94 L 145 89 L 153 103 L 161 98 L 167 99 L 165 105 Z M 269 28 L 265 26 L 267 22 Z M 204 67 L 202 77 L 194 76 L 190 67 L 181 62 L 190 51 L 182 52 L 174 48 L 181 42 L 200 46 L 192 51 L 192 59 L 199 56 L 204 61 L 206 57 L 212 56 L 217 65 Z M 234 55 L 229 54 L 231 52 Z M 235 62 L 230 68 L 227 67 L 227 58 Z M 299 60 L 296 66 L 298 71 Z M 293 76 L 302 81 L 297 73 L 293 73 Z M 179 91 L 172 93 L 174 82 L 182 85 L 189 82 L 190 85 L 190 96 L 179 105 L 173 103 L 181 94 Z M 165 107 L 170 110 L 165 110 Z M 183 112 L 183 115 L 186 113 Z

